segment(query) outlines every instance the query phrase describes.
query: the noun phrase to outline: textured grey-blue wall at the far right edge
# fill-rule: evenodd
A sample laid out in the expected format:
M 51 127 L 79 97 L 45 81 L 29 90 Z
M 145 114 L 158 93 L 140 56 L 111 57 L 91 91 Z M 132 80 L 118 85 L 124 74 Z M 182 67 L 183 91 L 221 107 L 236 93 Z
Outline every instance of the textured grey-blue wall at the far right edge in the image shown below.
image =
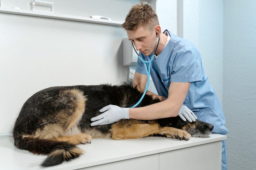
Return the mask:
M 256 1 L 225 0 L 223 108 L 228 167 L 256 169 Z

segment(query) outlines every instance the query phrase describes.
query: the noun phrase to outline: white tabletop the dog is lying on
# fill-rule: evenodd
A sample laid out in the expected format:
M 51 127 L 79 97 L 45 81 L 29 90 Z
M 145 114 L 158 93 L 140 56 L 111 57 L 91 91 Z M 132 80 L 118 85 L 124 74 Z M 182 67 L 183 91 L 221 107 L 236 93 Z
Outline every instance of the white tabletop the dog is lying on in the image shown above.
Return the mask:
M 172 151 L 226 139 L 227 136 L 211 134 L 209 137 L 191 137 L 188 141 L 164 137 L 112 140 L 93 138 L 91 144 L 80 144 L 85 153 L 77 159 L 60 165 L 43 168 L 45 155 L 35 155 L 14 146 L 12 137 L 0 138 L 0 169 L 78 169 L 125 159 Z

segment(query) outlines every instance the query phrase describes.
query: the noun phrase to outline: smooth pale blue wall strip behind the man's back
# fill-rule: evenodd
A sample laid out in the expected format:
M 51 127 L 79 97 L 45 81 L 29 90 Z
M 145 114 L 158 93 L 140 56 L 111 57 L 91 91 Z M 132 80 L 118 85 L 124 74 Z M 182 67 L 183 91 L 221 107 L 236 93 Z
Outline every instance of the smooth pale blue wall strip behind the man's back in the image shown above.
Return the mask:
M 223 1 L 199 2 L 199 51 L 205 74 L 223 103 Z M 222 104 L 223 105 L 223 104 Z

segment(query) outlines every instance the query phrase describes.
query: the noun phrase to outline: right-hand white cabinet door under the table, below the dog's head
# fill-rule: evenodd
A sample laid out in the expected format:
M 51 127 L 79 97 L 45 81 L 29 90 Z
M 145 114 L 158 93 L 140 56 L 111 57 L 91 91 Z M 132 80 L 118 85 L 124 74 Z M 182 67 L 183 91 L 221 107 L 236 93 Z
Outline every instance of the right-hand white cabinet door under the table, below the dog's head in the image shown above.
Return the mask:
M 221 170 L 221 141 L 159 153 L 159 170 Z

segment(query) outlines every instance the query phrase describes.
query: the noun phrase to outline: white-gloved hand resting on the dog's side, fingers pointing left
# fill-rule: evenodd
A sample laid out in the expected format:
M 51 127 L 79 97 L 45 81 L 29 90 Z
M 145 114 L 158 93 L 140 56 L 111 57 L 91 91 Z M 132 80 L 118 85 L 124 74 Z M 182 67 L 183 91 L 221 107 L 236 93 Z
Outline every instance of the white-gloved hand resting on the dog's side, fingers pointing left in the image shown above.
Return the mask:
M 122 108 L 116 105 L 108 105 L 100 109 L 100 112 L 104 112 L 96 117 L 93 117 L 91 126 L 105 125 L 114 122 L 118 122 L 121 119 L 129 119 L 129 108 Z

